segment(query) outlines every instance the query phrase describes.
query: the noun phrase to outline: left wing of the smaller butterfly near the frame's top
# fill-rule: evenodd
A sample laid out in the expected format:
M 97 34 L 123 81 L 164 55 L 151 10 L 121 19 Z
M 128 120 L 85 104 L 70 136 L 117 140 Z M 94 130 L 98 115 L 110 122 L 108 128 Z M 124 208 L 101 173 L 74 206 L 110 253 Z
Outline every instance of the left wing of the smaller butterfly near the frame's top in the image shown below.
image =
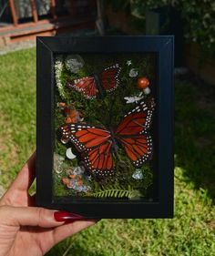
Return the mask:
M 83 95 L 89 99 L 97 96 L 97 85 L 94 77 L 82 77 L 67 82 L 68 87 L 73 87 L 77 91 L 81 91 Z

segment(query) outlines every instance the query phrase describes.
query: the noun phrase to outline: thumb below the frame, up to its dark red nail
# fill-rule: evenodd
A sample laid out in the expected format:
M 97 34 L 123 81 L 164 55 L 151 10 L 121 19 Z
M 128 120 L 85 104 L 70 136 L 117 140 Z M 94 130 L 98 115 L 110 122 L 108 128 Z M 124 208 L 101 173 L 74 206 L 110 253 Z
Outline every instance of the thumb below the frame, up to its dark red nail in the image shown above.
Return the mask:
M 41 207 L 0 207 L 0 220 L 10 226 L 39 226 L 52 228 L 64 224 L 64 221 L 56 221 L 55 210 L 47 210 Z

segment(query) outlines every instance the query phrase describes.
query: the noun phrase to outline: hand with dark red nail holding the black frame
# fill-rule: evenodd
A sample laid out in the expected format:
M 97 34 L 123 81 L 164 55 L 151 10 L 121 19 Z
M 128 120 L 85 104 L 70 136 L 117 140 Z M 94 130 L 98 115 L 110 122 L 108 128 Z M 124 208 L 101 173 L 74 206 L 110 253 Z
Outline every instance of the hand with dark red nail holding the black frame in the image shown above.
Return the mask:
M 35 164 L 36 154 L 33 154 L 0 200 L 0 256 L 44 255 L 57 242 L 96 222 L 67 223 L 54 216 L 67 215 L 65 212 L 34 207 L 35 197 L 28 194 L 28 189 L 35 179 Z

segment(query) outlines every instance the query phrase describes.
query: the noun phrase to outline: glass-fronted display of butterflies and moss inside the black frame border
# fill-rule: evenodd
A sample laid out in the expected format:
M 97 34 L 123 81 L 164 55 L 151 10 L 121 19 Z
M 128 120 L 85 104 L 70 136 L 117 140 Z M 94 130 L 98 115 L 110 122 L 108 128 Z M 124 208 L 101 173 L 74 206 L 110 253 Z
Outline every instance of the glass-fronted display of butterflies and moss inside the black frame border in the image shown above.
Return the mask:
M 154 53 L 56 55 L 54 196 L 155 200 Z

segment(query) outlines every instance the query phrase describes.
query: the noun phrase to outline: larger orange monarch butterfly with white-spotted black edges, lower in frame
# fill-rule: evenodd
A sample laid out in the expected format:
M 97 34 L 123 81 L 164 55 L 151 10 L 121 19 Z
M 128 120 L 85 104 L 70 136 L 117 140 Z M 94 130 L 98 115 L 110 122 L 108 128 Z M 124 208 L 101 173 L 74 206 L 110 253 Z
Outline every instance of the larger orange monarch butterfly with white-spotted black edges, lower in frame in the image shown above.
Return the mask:
M 80 152 L 86 168 L 97 176 L 114 174 L 113 154 L 123 148 L 136 168 L 152 156 L 151 125 L 154 99 L 141 101 L 126 114 L 115 130 L 77 123 L 61 127 L 61 141 L 71 142 Z

